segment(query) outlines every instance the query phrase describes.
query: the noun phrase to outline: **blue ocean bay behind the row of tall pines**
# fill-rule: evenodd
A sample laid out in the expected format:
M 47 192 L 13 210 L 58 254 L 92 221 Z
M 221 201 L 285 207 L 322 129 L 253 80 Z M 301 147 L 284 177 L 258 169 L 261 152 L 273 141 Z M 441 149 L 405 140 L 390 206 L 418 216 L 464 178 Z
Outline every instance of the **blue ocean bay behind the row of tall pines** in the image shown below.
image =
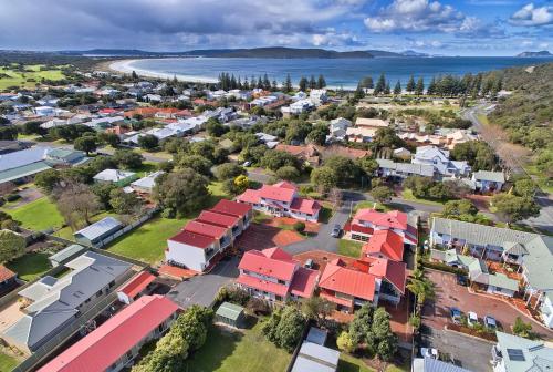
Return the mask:
M 177 75 L 197 81 L 216 81 L 221 72 L 250 80 L 268 74 L 271 81 L 282 83 L 286 74 L 298 84 L 301 76 L 323 74 L 328 86 L 353 89 L 364 76 L 376 82 L 380 73 L 386 74 L 392 87 L 399 80 L 405 87 L 409 76 L 424 78 L 428 84 L 432 76 L 478 73 L 518 65 L 535 65 L 553 62 L 553 58 L 514 56 L 437 56 L 437 58 L 374 58 L 374 59 L 229 59 L 229 58 L 171 58 L 133 60 L 121 70 L 136 70 L 143 74 L 159 76 Z M 123 69 L 122 69 L 123 66 Z M 117 69 L 117 66 L 115 68 Z

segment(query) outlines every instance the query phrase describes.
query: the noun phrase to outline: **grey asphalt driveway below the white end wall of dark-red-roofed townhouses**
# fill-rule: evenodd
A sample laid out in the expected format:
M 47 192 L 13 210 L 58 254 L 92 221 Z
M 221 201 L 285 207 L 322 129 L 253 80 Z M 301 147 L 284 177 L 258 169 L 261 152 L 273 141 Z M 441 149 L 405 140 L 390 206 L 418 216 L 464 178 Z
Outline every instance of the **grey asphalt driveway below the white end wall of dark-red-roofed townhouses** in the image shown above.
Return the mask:
M 219 288 L 230 283 L 238 277 L 238 257 L 221 261 L 209 273 L 192 277 L 177 285 L 167 297 L 184 309 L 199 304 L 211 306 Z

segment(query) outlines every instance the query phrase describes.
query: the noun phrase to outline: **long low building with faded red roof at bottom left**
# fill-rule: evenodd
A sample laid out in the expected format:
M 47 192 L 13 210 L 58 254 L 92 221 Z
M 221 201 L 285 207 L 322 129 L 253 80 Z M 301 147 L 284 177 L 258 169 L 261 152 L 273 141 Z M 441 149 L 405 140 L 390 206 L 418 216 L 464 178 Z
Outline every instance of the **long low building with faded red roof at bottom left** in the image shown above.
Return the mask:
M 179 307 L 167 297 L 144 296 L 55 356 L 39 372 L 109 371 L 132 365 L 142 347 L 160 338 Z

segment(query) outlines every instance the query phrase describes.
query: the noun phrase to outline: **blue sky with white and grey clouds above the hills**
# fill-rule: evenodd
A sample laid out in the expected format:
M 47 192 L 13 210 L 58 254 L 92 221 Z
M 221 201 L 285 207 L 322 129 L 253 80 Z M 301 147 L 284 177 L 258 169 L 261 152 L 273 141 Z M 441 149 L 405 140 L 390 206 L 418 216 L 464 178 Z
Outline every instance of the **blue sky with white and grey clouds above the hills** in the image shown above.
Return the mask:
M 0 0 L 0 49 L 553 52 L 553 0 Z

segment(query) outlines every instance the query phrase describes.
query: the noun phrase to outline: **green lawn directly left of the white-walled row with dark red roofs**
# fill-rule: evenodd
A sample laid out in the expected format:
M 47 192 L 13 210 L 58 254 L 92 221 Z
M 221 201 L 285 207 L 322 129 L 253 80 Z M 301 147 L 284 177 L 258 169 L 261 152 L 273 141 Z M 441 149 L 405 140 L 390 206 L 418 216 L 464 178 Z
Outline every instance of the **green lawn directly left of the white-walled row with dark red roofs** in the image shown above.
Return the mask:
M 164 258 L 167 239 L 176 235 L 188 219 L 155 217 L 111 244 L 108 251 L 148 264 Z

